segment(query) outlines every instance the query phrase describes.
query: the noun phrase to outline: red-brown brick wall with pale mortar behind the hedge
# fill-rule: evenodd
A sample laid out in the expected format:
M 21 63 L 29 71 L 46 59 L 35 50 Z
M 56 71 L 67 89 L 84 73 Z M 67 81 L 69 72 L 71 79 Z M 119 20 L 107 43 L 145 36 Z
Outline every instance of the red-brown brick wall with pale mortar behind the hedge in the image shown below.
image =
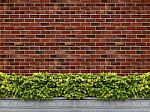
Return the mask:
M 0 71 L 150 71 L 150 0 L 0 0 Z

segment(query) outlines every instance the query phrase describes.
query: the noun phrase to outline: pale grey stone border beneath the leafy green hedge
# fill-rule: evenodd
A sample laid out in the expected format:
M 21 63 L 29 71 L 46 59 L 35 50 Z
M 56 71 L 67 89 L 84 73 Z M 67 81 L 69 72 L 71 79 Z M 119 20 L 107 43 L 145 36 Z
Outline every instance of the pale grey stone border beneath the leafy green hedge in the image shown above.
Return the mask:
M 51 101 L 23 101 L 0 99 L 0 112 L 150 112 L 149 99 L 127 101 L 101 101 L 96 98 Z

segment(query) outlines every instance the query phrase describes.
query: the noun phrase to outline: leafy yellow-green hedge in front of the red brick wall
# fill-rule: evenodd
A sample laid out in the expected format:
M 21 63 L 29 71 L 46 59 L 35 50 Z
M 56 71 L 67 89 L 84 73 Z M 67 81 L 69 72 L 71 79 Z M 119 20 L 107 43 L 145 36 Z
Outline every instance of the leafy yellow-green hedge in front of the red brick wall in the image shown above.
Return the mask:
M 0 98 L 50 100 L 53 97 L 100 100 L 150 98 L 150 73 L 118 76 L 100 74 L 48 74 L 32 76 L 0 73 Z

